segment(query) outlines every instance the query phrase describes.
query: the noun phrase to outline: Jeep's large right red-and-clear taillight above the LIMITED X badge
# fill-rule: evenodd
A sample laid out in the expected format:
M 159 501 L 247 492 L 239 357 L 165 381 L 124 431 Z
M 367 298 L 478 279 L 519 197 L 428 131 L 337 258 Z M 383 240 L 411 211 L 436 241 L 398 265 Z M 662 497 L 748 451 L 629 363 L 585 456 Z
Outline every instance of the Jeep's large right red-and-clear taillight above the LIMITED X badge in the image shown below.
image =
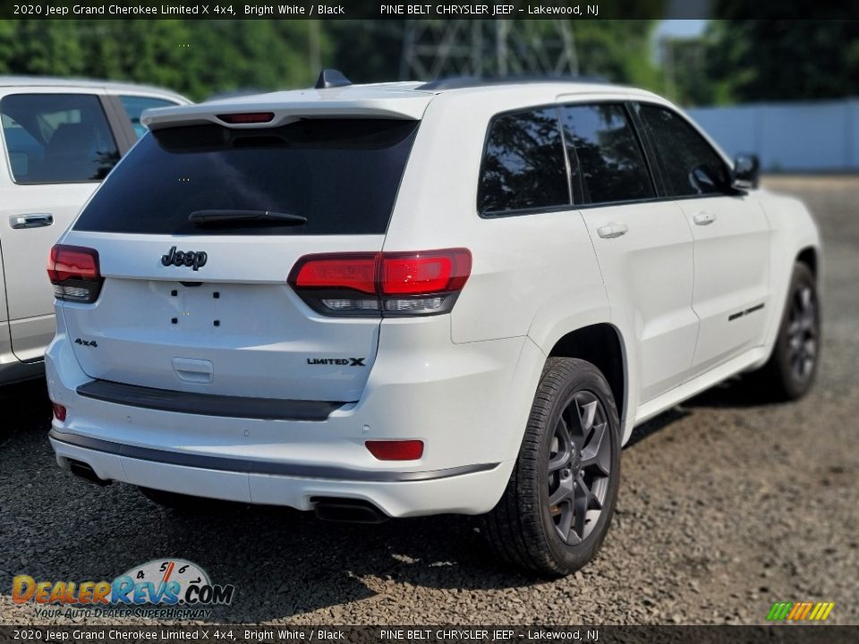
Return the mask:
M 472 272 L 467 249 L 305 255 L 289 275 L 293 290 L 325 315 L 447 313 Z

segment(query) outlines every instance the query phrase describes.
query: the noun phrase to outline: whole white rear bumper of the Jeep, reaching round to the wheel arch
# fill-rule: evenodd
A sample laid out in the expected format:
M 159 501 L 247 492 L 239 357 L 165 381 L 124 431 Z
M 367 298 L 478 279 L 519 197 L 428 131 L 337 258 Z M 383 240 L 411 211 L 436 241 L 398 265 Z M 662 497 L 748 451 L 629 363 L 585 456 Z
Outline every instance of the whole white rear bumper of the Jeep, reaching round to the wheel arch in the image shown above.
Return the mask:
M 313 496 L 368 501 L 393 517 L 488 512 L 506 487 L 545 357 L 527 338 L 454 344 L 449 319 L 384 326 L 361 400 L 327 418 L 243 418 L 82 395 L 62 316 L 46 354 L 58 462 L 193 496 L 310 509 Z M 176 389 L 181 388 L 176 383 Z M 84 391 L 87 391 L 84 388 Z M 223 402 L 223 401 L 220 401 Z M 241 402 L 239 403 L 241 404 Z M 419 439 L 421 459 L 378 461 L 367 440 Z

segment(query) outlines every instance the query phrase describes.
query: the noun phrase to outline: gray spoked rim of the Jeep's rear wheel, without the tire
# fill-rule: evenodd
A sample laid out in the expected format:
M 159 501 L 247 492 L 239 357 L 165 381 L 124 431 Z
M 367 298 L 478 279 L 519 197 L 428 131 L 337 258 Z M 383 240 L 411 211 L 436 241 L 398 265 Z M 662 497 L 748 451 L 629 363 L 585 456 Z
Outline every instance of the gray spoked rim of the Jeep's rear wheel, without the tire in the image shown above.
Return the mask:
M 589 391 L 576 392 L 557 419 L 549 450 L 549 514 L 570 546 L 588 538 L 605 505 L 609 432 L 605 407 Z

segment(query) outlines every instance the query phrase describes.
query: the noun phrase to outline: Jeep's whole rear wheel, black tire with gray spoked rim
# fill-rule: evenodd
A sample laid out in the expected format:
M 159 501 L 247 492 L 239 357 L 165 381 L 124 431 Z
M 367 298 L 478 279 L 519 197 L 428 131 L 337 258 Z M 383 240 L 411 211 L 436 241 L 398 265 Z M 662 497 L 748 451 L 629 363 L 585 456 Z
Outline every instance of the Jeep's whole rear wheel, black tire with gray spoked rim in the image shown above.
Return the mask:
M 589 414 L 591 427 L 586 428 Z M 563 445 L 565 428 L 569 445 Z M 598 435 L 601 442 L 595 445 Z M 561 462 L 567 464 L 558 469 Z M 585 360 L 549 358 L 510 481 L 498 505 L 483 517 L 481 531 L 506 562 L 562 577 L 596 555 L 619 482 L 620 420 L 606 378 Z M 549 504 L 550 496 L 565 490 L 569 498 Z M 565 521 L 570 526 L 566 539 Z

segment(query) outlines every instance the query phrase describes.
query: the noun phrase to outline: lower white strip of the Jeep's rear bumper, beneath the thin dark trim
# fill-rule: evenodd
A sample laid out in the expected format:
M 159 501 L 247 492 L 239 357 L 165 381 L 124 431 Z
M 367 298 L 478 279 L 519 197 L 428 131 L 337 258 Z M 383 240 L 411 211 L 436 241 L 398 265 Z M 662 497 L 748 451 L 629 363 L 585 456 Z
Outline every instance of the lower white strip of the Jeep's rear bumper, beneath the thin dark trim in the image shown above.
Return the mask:
M 358 479 L 325 478 L 322 470 L 317 472 L 320 477 L 288 476 L 143 460 L 82 447 L 69 439 L 51 431 L 57 462 L 65 469 L 70 469 L 70 461 L 84 462 L 100 479 L 241 503 L 289 505 L 299 510 L 311 510 L 314 497 L 361 499 L 391 517 L 489 512 L 513 467 L 508 462 L 425 472 L 360 472 Z M 116 449 L 123 451 L 123 445 Z M 266 466 L 265 462 L 244 464 L 251 470 L 265 470 Z M 328 472 L 336 477 L 355 474 Z

